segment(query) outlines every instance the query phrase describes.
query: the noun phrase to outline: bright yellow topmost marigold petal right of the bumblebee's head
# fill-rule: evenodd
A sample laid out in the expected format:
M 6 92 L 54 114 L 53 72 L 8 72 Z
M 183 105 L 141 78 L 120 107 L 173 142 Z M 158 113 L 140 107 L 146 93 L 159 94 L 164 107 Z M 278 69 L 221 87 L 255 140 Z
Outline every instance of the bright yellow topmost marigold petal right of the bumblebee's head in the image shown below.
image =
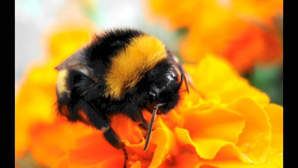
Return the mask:
M 230 103 L 239 96 L 248 96 L 261 104 L 269 103 L 269 97 L 265 93 L 251 87 L 248 81 L 241 78 L 222 58 L 209 54 L 204 56 L 197 66 L 184 67 L 193 77 L 195 87 L 207 98 L 209 94 L 217 94 L 222 103 Z

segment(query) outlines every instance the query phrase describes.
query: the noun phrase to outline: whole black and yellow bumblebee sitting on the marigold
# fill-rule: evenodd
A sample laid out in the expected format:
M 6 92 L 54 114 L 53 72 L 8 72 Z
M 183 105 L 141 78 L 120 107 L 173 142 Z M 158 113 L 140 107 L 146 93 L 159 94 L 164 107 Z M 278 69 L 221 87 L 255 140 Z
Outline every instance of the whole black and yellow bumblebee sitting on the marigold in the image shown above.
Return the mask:
M 127 153 L 111 128 L 111 116 L 126 115 L 147 131 L 154 118 L 166 115 L 182 100 L 182 84 L 192 85 L 178 59 L 158 38 L 134 29 L 107 30 L 55 67 L 58 112 L 103 132 L 115 148 Z M 150 124 L 143 112 L 150 112 Z

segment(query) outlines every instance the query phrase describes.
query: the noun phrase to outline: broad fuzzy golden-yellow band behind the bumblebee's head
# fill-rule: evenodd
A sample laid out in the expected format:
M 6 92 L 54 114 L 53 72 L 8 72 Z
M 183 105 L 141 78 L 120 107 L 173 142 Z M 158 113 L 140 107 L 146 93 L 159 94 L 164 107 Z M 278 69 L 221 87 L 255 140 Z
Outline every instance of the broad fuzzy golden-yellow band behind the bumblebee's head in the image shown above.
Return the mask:
M 111 66 L 105 74 L 105 96 L 121 99 L 125 91 L 133 88 L 144 73 L 152 70 L 167 57 L 164 44 L 156 37 L 142 35 L 111 58 Z

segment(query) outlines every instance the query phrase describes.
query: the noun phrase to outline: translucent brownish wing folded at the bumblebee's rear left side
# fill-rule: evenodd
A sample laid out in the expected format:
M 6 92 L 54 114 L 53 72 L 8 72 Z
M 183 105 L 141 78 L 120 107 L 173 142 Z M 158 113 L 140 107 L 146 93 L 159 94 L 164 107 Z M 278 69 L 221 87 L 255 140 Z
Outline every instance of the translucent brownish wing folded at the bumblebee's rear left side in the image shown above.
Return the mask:
M 75 69 L 78 70 L 86 75 L 88 75 L 92 80 L 95 82 L 99 82 L 98 78 L 94 77 L 91 70 L 84 64 L 83 61 L 83 51 L 78 50 L 77 52 L 73 53 L 70 57 L 68 57 L 65 61 L 55 67 L 55 70 L 70 70 Z

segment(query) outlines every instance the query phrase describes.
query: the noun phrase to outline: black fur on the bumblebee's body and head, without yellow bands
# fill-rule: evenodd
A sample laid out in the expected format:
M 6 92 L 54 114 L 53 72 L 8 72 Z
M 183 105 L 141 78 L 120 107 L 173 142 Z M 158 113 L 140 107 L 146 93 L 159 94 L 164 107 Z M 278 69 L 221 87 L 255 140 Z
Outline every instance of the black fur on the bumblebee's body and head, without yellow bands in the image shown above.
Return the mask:
M 104 132 L 104 137 L 117 149 L 123 149 L 124 144 L 110 127 L 109 116 L 124 114 L 132 121 L 140 123 L 140 128 L 147 130 L 148 123 L 143 118 L 142 112 L 148 111 L 145 100 L 149 92 L 156 93 L 157 103 L 167 103 L 166 106 L 159 108 L 159 114 L 166 115 L 181 100 L 179 82 L 177 77 L 175 78 L 171 73 L 171 68 L 179 65 L 173 60 L 170 53 L 167 53 L 168 56 L 165 60 L 149 72 L 146 72 L 145 77 L 127 92 L 121 100 L 104 97 L 104 75 L 109 67 L 110 58 L 115 56 L 126 45 L 129 45 L 131 38 L 142 34 L 137 30 L 117 29 L 96 36 L 96 39 L 82 51 L 84 53 L 84 64 L 92 70 L 92 73 L 100 82 L 94 82 L 88 75 L 80 71 L 68 70 L 69 75 L 65 80 L 67 87 L 71 90 L 70 97 L 68 98 L 67 94 L 62 97 L 57 96 L 59 111 L 62 104 L 69 107 L 69 115 L 66 117 L 70 121 L 77 120 L 77 109 L 81 108 L 92 126 L 99 130 L 103 127 L 109 127 L 110 129 Z M 158 93 L 156 88 L 160 89 Z M 127 156 L 125 157 L 127 160 Z

